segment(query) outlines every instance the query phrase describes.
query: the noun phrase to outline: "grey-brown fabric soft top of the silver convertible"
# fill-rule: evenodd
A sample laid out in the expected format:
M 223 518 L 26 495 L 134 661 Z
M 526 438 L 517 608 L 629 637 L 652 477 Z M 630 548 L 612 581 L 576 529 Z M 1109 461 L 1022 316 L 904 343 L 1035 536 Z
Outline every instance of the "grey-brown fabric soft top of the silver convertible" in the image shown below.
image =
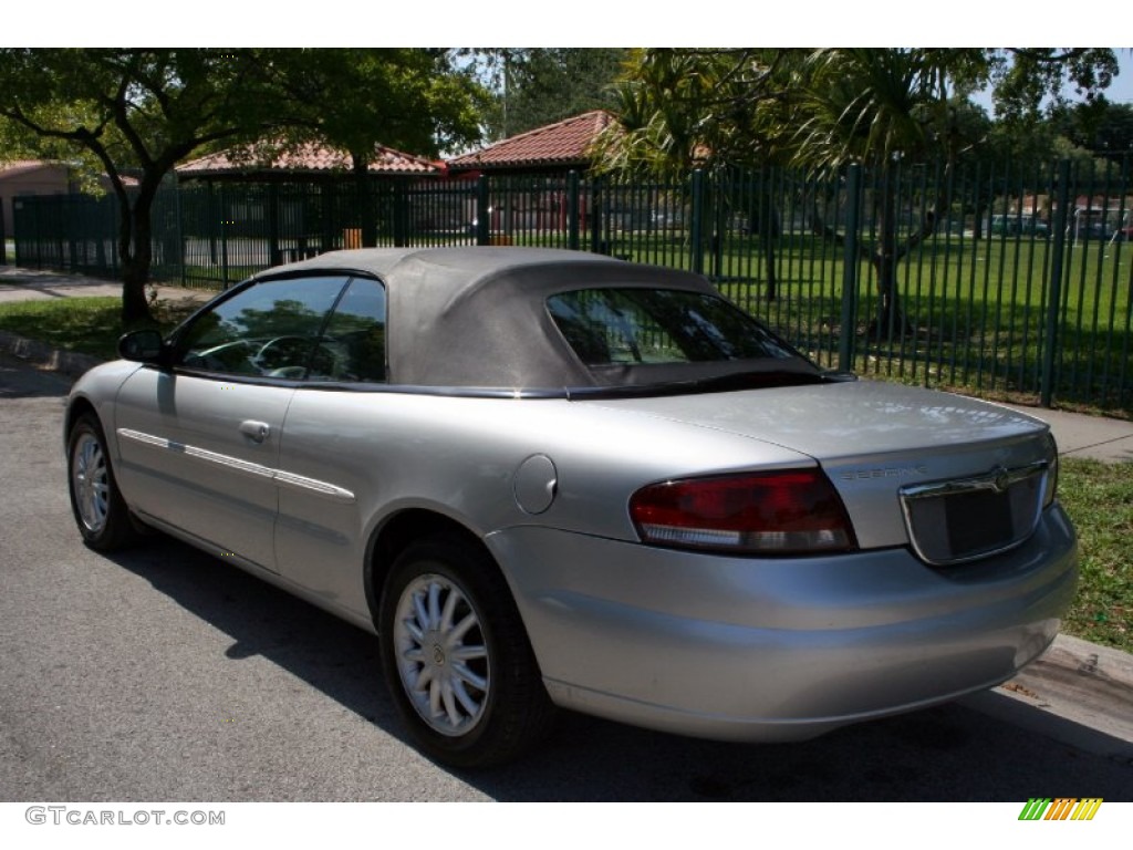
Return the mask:
M 717 295 L 690 272 L 577 250 L 512 247 L 363 248 L 278 266 L 257 280 L 344 272 L 386 288 L 391 383 L 450 388 L 608 386 L 563 339 L 548 296 L 577 289 L 680 289 Z

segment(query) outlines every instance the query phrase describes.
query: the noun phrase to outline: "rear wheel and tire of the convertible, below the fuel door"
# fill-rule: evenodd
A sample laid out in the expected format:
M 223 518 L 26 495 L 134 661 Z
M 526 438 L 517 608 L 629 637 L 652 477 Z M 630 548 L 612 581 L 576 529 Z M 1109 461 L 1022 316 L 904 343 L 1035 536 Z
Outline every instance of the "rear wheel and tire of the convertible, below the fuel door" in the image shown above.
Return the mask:
M 510 762 L 554 708 L 495 563 L 449 539 L 394 561 L 378 612 L 382 668 L 418 748 L 453 767 Z

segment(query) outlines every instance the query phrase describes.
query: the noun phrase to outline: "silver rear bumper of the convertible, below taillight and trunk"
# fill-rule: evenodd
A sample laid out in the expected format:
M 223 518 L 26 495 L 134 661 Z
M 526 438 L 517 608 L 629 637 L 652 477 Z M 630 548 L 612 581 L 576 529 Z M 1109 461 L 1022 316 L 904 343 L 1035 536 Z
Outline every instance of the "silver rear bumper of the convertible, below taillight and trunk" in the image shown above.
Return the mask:
M 908 550 L 732 559 L 547 528 L 491 535 L 552 698 L 634 725 L 799 740 L 1010 679 L 1076 583 L 1065 515 L 934 570 Z

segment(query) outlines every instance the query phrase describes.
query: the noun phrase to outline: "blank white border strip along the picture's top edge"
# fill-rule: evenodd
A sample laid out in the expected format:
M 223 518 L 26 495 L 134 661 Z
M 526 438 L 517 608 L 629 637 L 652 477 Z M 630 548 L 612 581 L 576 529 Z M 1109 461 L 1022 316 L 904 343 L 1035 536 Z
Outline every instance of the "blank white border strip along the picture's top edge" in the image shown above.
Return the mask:
M 1025 14 L 1016 3 L 988 0 L 928 6 L 894 0 L 696 0 L 653 3 L 647 14 L 639 3 L 625 0 L 571 0 L 568 6 L 533 0 L 472 5 L 429 0 L 427 7 L 338 0 L 291 7 L 295 14 L 284 11 L 286 7 L 271 14 L 262 3 L 231 0 L 194 0 L 170 15 L 155 11 L 152 0 L 6 6 L 0 46 L 44 48 L 111 43 L 297 48 L 1090 44 L 1106 33 L 1106 20 L 1115 20 L 1068 14 L 1063 0 L 1029 0 Z M 1116 31 L 1126 32 L 1121 26 Z

